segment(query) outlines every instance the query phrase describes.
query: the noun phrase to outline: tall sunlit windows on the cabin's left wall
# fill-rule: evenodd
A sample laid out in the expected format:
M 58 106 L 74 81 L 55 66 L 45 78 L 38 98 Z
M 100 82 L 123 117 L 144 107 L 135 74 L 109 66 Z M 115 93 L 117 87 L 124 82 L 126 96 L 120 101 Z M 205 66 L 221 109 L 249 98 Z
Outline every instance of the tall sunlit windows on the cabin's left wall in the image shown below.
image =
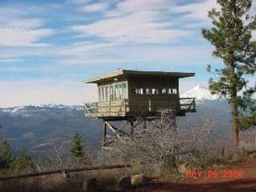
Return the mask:
M 118 101 L 127 98 L 127 83 L 118 82 L 108 86 L 98 87 L 98 100 L 100 102 Z

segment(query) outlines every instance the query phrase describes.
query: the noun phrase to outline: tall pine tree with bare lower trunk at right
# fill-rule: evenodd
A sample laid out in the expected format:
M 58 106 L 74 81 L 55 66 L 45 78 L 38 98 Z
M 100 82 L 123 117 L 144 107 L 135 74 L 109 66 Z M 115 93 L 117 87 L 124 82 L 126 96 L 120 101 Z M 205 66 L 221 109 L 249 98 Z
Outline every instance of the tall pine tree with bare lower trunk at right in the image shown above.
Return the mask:
M 215 47 L 213 55 L 224 64 L 215 70 L 207 66 L 215 76 L 210 78 L 209 85 L 212 94 L 220 94 L 230 102 L 231 130 L 238 146 L 242 119 L 248 118 L 250 106 L 255 105 L 251 97 L 256 86 L 249 86 L 248 77 L 254 77 L 256 70 L 256 42 L 252 40 L 256 16 L 250 15 L 252 0 L 218 0 L 218 5 L 220 10 L 209 12 L 214 26 L 210 30 L 202 29 L 203 37 Z M 254 112 L 253 109 L 251 107 L 250 112 Z

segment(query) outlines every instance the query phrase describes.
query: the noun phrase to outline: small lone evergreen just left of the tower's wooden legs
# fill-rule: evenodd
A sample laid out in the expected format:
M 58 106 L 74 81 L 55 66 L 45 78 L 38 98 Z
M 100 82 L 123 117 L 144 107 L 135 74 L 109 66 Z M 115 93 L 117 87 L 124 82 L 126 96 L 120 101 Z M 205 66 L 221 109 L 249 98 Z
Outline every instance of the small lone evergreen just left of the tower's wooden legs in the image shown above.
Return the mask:
M 82 136 L 78 133 L 74 134 L 74 137 L 71 141 L 70 152 L 71 152 L 73 158 L 87 158 L 85 146 L 82 141 Z

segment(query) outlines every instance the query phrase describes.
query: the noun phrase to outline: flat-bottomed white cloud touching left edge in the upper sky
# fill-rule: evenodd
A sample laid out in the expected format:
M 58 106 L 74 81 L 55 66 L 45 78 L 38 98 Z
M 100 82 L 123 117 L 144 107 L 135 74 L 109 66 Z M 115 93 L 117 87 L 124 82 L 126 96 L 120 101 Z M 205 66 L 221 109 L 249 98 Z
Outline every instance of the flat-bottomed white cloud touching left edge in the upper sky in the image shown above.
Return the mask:
M 0 46 L 47 46 L 38 43 L 40 38 L 54 34 L 50 29 L 23 30 L 15 28 L 0 28 Z

